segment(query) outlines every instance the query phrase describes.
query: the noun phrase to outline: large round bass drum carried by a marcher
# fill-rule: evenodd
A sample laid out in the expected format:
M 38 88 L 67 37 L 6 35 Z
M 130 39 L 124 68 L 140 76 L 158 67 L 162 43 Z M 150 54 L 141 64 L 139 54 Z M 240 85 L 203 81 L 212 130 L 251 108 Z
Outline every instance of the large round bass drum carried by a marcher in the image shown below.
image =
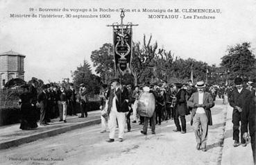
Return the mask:
M 148 92 L 142 93 L 139 96 L 137 110 L 140 116 L 152 117 L 155 111 L 155 96 Z

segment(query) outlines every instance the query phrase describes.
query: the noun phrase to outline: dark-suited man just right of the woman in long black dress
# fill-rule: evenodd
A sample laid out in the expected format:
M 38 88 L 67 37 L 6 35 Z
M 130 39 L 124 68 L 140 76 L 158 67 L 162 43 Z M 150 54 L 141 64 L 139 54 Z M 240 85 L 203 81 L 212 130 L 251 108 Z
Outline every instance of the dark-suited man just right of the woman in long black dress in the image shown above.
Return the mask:
M 47 90 L 47 85 L 42 85 L 42 92 L 38 94 L 38 97 L 37 97 L 37 101 L 40 104 L 40 122 L 39 123 L 42 126 L 49 125 L 49 123 L 46 122 L 46 118 L 45 118 L 45 114 L 47 110 L 47 102 L 48 102 L 46 90 Z

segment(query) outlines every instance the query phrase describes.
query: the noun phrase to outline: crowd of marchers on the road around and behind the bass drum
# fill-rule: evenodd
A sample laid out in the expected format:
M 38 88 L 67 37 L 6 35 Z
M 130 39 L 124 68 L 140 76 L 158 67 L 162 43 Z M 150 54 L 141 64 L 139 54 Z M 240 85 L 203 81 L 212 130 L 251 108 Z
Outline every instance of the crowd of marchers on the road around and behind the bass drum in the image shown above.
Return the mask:
M 101 89 L 102 116 L 101 133 L 110 130 L 108 142 L 114 141 L 115 128 L 119 128 L 119 141 L 123 141 L 125 124 L 128 132 L 131 130 L 130 121 L 143 125 L 142 134 L 147 134 L 148 121 L 151 133 L 155 134 L 155 125 L 162 121 L 174 120 L 174 132 L 185 134 L 186 118 L 191 114 L 191 125 L 194 127 L 196 149 L 207 150 L 208 125 L 212 125 L 211 108 L 219 96 L 223 104 L 229 103 L 233 107 L 233 139 L 234 147 L 239 143 L 239 126 L 241 125 L 241 146 L 248 144 L 250 134 L 253 156 L 255 159 L 255 83 L 244 82 L 241 78 L 234 79 L 234 85 L 205 85 L 199 81 L 193 85 L 191 81 L 185 84 L 175 83 L 167 85 L 146 83 L 131 88 L 131 85 L 121 85 L 119 79 L 110 82 L 111 87 L 105 85 Z M 153 116 L 139 116 L 138 102 L 142 93 L 148 92 L 155 97 L 155 111 Z M 228 100 L 225 101 L 225 95 Z M 130 114 L 133 113 L 133 116 Z M 130 117 L 132 119 L 130 119 Z M 107 124 L 108 123 L 108 126 Z M 181 123 L 181 125 L 180 125 Z M 248 129 L 249 128 L 249 129 Z M 249 131 L 248 131 L 249 130 Z

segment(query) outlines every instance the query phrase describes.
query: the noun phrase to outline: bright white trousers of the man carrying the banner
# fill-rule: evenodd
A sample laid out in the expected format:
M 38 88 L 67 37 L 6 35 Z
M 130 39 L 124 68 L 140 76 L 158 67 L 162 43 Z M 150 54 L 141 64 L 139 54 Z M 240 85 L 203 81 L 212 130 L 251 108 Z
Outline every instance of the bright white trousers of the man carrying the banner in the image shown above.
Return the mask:
M 124 128 L 126 123 L 126 113 L 117 112 L 116 108 L 112 108 L 109 115 L 108 128 L 110 129 L 109 137 L 110 139 L 114 139 L 115 130 L 117 128 L 118 122 L 118 137 L 123 139 Z

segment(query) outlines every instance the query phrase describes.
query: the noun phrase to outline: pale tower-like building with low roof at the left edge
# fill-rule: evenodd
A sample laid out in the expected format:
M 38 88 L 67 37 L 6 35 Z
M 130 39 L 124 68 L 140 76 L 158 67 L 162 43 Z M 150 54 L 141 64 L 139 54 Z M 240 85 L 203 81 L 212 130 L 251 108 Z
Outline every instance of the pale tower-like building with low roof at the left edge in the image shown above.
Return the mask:
M 12 78 L 24 80 L 24 58 L 15 51 L 0 53 L 0 89 Z

